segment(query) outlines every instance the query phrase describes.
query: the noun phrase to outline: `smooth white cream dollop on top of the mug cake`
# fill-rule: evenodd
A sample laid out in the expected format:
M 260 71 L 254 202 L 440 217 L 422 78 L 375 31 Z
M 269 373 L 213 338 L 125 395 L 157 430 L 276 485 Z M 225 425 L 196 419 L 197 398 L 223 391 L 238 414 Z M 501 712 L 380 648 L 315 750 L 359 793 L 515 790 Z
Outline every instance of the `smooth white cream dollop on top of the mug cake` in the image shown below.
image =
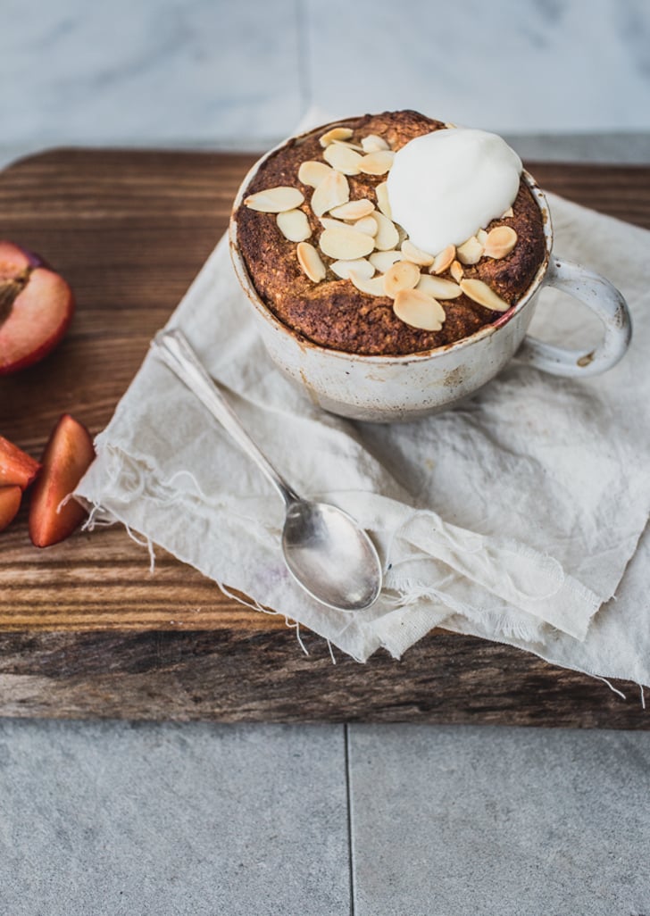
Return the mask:
M 388 173 L 395 223 L 431 255 L 461 245 L 515 201 L 522 163 L 504 139 L 452 127 L 397 150 Z

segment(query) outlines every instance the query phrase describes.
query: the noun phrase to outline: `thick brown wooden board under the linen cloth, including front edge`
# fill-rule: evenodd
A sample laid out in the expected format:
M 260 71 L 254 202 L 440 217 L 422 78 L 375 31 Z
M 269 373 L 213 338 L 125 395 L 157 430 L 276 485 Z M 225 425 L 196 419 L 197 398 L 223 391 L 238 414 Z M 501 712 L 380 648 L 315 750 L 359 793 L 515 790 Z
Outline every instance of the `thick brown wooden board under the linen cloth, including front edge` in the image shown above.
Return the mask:
M 0 377 L 0 433 L 35 456 L 64 411 L 110 420 L 191 279 L 226 228 L 253 157 L 54 150 L 0 173 L 0 237 L 70 280 L 78 311 L 41 364 Z M 650 228 L 650 169 L 530 164 L 549 191 Z M 225 598 L 121 528 L 38 551 L 25 509 L 0 534 L 0 714 L 650 726 L 635 685 L 435 632 L 401 661 L 366 665 L 282 617 Z

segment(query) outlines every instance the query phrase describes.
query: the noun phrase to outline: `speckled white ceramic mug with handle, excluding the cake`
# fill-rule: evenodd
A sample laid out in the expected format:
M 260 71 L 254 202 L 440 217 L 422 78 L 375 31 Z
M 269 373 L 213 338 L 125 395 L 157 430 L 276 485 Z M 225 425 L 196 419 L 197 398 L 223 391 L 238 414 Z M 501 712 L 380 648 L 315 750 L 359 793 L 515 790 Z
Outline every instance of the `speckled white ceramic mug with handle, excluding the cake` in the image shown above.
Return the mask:
M 260 300 L 237 245 L 236 212 L 244 191 L 261 163 L 275 151 L 255 164 L 237 194 L 230 227 L 231 254 L 268 353 L 322 409 L 355 420 L 414 420 L 471 395 L 515 354 L 556 376 L 587 377 L 605 372 L 625 353 L 632 322 L 623 296 L 599 274 L 552 254 L 547 199 L 527 172 L 523 177 L 544 221 L 546 253 L 525 295 L 495 322 L 453 344 L 403 356 L 364 356 L 312 344 L 279 322 Z M 545 286 L 568 292 L 598 316 L 604 331 L 599 346 L 573 351 L 526 336 L 539 291 Z

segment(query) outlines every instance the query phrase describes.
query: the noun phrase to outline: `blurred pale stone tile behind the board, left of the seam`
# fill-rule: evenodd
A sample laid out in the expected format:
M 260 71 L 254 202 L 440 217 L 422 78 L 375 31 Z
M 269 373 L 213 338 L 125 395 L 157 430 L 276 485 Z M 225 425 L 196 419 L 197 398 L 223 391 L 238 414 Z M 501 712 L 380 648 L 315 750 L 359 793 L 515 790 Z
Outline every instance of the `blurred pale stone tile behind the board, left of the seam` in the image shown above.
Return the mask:
M 5 0 L 2 142 L 286 134 L 306 104 L 299 24 L 295 0 Z

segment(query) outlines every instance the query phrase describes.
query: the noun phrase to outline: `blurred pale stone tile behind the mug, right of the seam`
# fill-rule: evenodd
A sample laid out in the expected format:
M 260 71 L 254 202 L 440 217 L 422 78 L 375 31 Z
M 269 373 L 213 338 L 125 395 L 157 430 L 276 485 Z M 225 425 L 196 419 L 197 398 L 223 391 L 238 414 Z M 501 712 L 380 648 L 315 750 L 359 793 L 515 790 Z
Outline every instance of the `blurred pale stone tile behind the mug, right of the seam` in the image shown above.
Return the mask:
M 647 0 L 309 0 L 311 98 L 504 132 L 650 128 Z

